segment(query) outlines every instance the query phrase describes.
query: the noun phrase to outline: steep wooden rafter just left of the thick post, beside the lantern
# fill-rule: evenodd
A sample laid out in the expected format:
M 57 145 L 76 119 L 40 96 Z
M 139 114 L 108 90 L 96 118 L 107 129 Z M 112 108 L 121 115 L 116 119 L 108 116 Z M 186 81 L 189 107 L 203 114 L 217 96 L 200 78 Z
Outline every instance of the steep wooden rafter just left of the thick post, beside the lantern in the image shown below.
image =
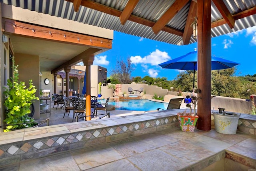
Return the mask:
M 186 25 L 185 25 L 183 36 L 182 36 L 184 45 L 189 44 L 190 37 L 193 33 L 193 28 L 191 27 L 191 24 L 193 23 L 195 18 L 196 18 L 196 2 L 191 1 L 189 11 L 188 11 L 188 17 L 186 20 Z

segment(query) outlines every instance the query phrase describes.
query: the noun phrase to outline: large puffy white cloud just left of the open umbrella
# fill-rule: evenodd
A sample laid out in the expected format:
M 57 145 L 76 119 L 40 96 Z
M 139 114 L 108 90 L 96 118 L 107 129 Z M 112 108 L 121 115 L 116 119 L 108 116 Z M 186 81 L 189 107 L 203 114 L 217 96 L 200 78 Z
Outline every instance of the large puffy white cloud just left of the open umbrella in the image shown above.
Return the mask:
M 132 56 L 130 58 L 132 64 L 151 64 L 152 66 L 161 64 L 170 59 L 171 57 L 168 56 L 167 52 L 161 52 L 158 49 L 143 58 L 141 56 Z

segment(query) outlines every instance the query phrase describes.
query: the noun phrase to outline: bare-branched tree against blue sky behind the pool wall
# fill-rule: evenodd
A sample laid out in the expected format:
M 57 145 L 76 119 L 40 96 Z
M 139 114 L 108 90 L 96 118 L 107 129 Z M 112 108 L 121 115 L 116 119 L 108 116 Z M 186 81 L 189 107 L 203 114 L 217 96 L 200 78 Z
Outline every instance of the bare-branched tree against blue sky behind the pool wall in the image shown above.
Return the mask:
M 120 82 L 120 84 L 131 83 L 131 73 L 134 71 L 134 66 L 130 58 L 116 61 L 116 68 L 112 69 L 112 77 Z

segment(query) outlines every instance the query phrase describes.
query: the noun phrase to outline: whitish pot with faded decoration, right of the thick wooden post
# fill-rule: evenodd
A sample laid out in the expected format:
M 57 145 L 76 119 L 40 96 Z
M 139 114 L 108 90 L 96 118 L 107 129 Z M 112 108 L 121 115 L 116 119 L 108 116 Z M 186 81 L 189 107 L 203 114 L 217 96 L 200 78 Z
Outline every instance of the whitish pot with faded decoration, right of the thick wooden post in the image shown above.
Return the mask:
M 241 114 L 232 113 L 233 115 L 222 115 L 214 113 L 215 130 L 218 133 L 236 134 L 238 119 Z

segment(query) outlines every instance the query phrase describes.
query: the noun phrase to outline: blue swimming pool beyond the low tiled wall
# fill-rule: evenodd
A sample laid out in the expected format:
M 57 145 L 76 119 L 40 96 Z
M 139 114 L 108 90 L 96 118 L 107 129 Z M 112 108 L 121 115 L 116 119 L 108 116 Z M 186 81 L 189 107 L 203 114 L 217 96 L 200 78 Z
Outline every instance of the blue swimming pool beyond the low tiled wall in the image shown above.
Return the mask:
M 104 100 L 98 100 L 104 103 Z M 136 110 L 136 111 L 150 111 L 157 108 L 167 109 L 168 103 L 161 103 L 147 99 L 116 99 L 116 101 L 109 101 L 108 104 L 114 105 L 118 110 Z

